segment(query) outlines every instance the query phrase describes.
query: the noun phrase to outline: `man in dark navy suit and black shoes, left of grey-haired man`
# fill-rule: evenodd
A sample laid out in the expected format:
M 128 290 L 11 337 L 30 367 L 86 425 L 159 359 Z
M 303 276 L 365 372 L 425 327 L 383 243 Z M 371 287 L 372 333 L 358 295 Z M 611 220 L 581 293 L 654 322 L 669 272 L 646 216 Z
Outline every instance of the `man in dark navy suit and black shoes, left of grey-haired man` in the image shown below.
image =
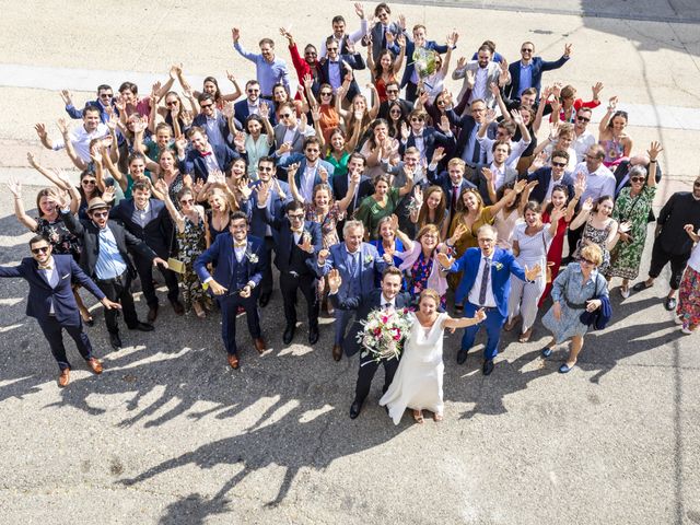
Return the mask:
M 284 304 L 287 327 L 282 336 L 284 345 L 292 342 L 296 330 L 296 291 L 306 300 L 308 316 L 308 342 L 318 342 L 318 298 L 316 296 L 316 254 L 322 247 L 320 225 L 304 220 L 304 205 L 292 200 L 284 213 L 273 217 L 267 207 L 270 184 L 257 187 L 258 205 L 253 209 L 253 221 L 262 221 L 277 231 L 275 266 L 280 270 L 280 290 Z

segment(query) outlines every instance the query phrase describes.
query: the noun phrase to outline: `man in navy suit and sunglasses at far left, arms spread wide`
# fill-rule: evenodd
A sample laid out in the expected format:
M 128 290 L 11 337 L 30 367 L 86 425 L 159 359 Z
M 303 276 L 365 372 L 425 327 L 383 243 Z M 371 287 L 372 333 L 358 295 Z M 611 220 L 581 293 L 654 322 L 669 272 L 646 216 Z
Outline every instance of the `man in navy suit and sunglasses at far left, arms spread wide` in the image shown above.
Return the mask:
M 75 347 L 95 374 L 102 374 L 102 364 L 92 354 L 92 345 L 83 331 L 80 312 L 71 288 L 75 280 L 92 293 L 105 308 L 120 308 L 109 301 L 70 255 L 51 255 L 51 245 L 42 235 L 30 241 L 32 257 L 22 259 L 20 266 L 0 266 L 0 277 L 22 277 L 30 283 L 26 315 L 34 317 L 42 328 L 51 353 L 58 362 L 58 385 L 70 381 L 70 363 L 66 357 L 62 330 L 75 341 Z

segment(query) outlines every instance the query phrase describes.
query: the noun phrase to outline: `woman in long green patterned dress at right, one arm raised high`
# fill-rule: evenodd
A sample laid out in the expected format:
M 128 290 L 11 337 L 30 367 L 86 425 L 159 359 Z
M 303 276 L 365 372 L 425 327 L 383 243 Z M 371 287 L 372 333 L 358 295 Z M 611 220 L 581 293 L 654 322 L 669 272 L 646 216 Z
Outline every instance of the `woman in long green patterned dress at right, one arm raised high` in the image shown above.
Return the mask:
M 622 278 L 620 293 L 625 299 L 630 295 L 630 279 L 637 279 L 639 265 L 646 241 L 646 222 L 656 195 L 656 156 L 663 150 L 658 142 L 652 142 L 648 150 L 649 173 L 643 166 L 630 170 L 630 186 L 622 188 L 615 201 L 612 219 L 629 222 L 630 231 L 620 233 L 620 241 L 610 253 L 610 267 L 605 272 L 609 281 L 614 277 Z

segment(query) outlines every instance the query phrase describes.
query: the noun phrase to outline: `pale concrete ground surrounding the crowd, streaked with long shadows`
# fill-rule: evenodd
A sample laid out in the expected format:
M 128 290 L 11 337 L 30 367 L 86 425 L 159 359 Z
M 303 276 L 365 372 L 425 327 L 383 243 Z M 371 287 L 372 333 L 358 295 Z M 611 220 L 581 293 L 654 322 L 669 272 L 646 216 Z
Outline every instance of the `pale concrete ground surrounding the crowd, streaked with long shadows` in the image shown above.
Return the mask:
M 411 25 L 425 22 L 439 40 L 457 27 L 457 57 L 487 37 L 509 59 L 524 39 L 546 58 L 572 42 L 572 61 L 546 81 L 561 79 L 585 93 L 599 80 L 604 98 L 618 94 L 635 105 L 629 129 L 635 150 L 651 140 L 665 149 L 658 203 L 689 189 L 700 165 L 698 149 L 686 145 L 697 141 L 700 109 L 695 2 L 569 0 L 556 9 L 528 2 L 524 12 L 513 2 L 442 3 L 451 7 L 392 7 Z M 308 0 L 90 8 L 5 0 L 0 10 L 0 182 L 27 184 L 27 209 L 43 182 L 26 168 L 26 152 L 68 166 L 62 154 L 42 149 L 32 129 L 45 121 L 56 136 L 51 122 L 65 115 L 58 89 L 70 88 L 82 102 L 103 78 L 147 82 L 175 61 L 191 77 L 214 74 L 223 84 L 229 69 L 245 81 L 253 68 L 231 47 L 232 25 L 242 27 L 248 48 L 273 36 L 289 59 L 280 25 L 291 25 L 300 45 L 319 44 L 332 15 L 345 14 L 350 26 L 357 20 L 350 2 Z M 26 86 L 33 72 L 30 84 L 42 89 Z M 26 256 L 28 237 L 9 192 L 0 191 L 0 264 Z M 476 357 L 481 346 L 459 366 L 458 335 L 448 336 L 444 422 L 416 425 L 406 415 L 397 427 L 376 405 L 381 373 L 360 418 L 348 418 L 357 360 L 331 360 L 331 319 L 314 348 L 305 343 L 305 323 L 294 345 L 283 347 L 279 292 L 264 311 L 266 354 L 247 345 L 240 319 L 246 345 L 240 371 L 225 365 L 215 315 L 183 319 L 164 305 L 155 331 L 125 329 L 127 347 L 112 352 L 95 307 L 89 334 L 105 373 L 89 373 L 71 345 L 72 382 L 59 389 L 46 341 L 24 315 L 26 284 L 3 280 L 0 520 L 700 523 L 698 336 L 681 336 L 663 308 L 664 278 L 626 301 L 614 282 L 612 323 L 586 337 L 580 365 L 565 376 L 557 373 L 564 348 L 539 357 L 547 340 L 539 324 L 527 345 L 503 338 L 487 378 Z M 145 315 L 142 301 L 137 308 Z

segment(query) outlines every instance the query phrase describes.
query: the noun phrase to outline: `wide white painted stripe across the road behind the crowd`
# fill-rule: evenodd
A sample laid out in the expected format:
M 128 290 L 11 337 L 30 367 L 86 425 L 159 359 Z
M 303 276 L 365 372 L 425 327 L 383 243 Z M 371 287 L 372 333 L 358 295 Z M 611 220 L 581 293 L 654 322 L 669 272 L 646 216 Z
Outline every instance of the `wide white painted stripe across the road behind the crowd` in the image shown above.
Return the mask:
M 190 82 L 192 86 L 199 89 L 203 79 L 203 77 L 190 77 Z M 94 93 L 98 84 L 109 84 L 116 92 L 119 84 L 127 80 L 136 83 L 139 86 L 139 93 L 144 95 L 151 91 L 153 82 L 156 80 L 164 82 L 166 75 L 162 72 L 149 73 L 0 63 L 0 86 Z M 622 103 L 618 107 L 628 112 L 630 126 L 700 131 L 700 108 Z M 594 114 L 597 119 L 602 118 L 604 109 L 604 104 L 596 108 Z

